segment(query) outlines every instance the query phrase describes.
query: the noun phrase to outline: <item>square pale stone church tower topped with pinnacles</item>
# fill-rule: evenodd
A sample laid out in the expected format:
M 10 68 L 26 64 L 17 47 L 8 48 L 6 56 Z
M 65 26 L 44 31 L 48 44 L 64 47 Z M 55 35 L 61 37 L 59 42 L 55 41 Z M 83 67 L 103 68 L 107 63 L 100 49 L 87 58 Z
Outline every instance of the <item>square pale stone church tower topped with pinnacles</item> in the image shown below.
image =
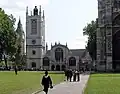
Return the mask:
M 31 15 L 26 10 L 26 54 L 27 69 L 41 69 L 42 56 L 45 50 L 45 19 L 41 12 L 41 6 L 38 12 L 37 6 L 33 9 Z

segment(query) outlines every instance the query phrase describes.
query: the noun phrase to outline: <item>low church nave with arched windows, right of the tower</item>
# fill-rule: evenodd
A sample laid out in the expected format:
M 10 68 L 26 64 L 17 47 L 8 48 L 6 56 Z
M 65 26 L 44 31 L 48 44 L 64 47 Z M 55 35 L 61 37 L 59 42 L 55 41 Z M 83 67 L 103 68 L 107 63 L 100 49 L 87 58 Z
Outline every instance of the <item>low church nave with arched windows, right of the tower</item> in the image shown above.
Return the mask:
M 47 48 L 47 47 L 46 47 Z M 69 49 L 67 45 L 55 43 L 51 45 L 51 49 L 46 49 L 46 54 L 43 57 L 43 70 L 64 70 L 73 69 L 79 70 L 80 67 L 85 67 L 91 64 L 89 53 L 85 49 Z

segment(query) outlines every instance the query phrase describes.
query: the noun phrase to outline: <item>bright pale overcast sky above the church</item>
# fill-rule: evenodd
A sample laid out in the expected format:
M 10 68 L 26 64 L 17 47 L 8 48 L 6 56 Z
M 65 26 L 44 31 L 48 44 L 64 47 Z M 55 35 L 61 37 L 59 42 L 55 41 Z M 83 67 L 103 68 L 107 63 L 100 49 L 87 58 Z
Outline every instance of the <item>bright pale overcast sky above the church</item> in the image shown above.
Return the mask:
M 0 0 L 7 14 L 13 14 L 18 22 L 19 16 L 25 31 L 26 6 L 29 11 L 42 5 L 46 19 L 46 42 L 68 43 L 70 49 L 85 48 L 87 38 L 83 28 L 97 18 L 97 0 Z

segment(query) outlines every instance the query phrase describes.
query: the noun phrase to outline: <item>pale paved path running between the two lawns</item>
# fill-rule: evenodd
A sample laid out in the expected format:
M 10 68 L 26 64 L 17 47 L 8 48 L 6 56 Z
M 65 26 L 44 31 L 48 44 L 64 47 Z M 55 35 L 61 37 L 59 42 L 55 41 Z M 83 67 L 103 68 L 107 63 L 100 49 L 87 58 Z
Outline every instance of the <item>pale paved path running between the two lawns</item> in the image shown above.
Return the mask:
M 81 75 L 80 82 L 63 82 L 50 89 L 48 94 L 82 94 L 89 75 Z M 45 94 L 43 91 L 38 94 Z

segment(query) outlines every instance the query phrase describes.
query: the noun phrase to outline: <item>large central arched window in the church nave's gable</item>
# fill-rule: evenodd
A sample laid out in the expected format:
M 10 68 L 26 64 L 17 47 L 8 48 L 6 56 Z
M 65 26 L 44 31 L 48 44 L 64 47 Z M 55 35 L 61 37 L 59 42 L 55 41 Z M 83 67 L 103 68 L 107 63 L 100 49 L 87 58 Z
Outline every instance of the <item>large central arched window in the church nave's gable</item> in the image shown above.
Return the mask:
M 55 59 L 57 62 L 59 62 L 59 61 L 63 62 L 63 49 L 57 48 L 55 50 Z

